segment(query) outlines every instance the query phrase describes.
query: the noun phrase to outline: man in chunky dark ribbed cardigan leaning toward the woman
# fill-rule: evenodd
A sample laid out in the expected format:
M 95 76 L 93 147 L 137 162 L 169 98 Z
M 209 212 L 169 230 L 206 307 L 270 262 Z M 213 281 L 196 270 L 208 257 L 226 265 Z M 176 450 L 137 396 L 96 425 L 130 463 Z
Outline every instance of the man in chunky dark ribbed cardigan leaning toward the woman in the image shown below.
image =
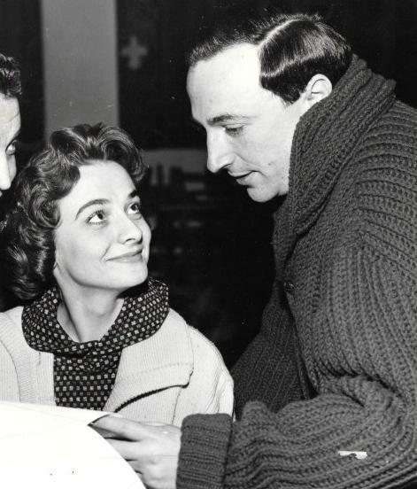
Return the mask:
M 146 485 L 417 479 L 417 113 L 393 88 L 315 16 L 226 27 L 191 53 L 209 169 L 286 198 L 272 297 L 233 371 L 239 421 L 98 423 Z

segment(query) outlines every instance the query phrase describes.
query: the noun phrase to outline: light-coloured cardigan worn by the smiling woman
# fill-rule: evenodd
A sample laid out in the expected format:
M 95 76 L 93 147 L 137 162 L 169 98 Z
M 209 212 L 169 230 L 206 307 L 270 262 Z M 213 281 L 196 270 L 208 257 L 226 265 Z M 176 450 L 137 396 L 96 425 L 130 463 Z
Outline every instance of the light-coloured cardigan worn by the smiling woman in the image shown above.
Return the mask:
M 54 406 L 53 353 L 27 345 L 21 307 L 0 314 L 0 400 Z M 122 350 L 104 411 L 180 426 L 194 413 L 233 413 L 233 381 L 220 353 L 170 310 L 151 338 Z

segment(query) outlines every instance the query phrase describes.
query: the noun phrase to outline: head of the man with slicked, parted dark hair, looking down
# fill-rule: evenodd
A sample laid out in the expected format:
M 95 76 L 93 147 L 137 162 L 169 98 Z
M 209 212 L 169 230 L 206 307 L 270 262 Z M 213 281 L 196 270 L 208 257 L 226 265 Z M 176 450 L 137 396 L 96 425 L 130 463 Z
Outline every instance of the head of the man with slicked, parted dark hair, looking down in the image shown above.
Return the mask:
M 206 131 L 208 169 L 228 171 L 253 200 L 285 195 L 297 122 L 328 97 L 351 56 L 344 37 L 305 14 L 205 35 L 189 55 L 187 89 Z

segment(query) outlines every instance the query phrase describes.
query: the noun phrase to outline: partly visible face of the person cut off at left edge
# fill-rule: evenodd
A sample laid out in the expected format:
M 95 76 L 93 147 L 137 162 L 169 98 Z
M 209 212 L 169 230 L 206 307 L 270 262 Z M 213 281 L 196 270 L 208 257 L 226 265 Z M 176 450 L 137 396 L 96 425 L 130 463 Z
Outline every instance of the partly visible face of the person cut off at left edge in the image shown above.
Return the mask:
M 0 196 L 16 175 L 16 139 L 20 130 L 19 102 L 0 94 Z

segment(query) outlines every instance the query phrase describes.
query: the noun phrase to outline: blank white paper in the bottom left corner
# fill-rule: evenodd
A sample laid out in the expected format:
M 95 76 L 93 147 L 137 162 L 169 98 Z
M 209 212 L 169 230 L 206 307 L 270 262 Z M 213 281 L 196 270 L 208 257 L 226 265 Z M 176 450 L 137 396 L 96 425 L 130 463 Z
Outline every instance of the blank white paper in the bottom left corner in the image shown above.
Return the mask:
M 2 487 L 143 489 L 135 471 L 88 426 L 107 414 L 0 402 Z

